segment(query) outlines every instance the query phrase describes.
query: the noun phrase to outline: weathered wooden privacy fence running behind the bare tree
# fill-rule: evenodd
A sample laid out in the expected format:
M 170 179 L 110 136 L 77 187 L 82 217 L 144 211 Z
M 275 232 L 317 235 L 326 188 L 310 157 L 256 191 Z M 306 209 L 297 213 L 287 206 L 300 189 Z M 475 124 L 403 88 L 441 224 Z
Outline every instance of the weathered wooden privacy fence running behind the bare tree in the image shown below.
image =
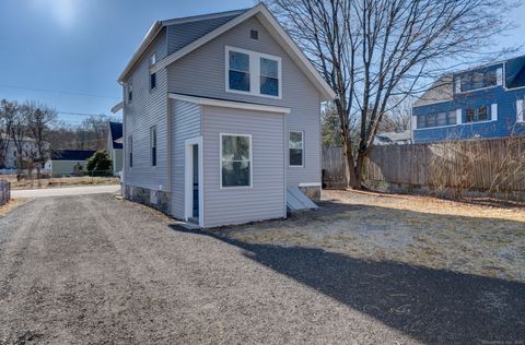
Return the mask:
M 323 148 L 326 187 L 345 185 L 341 147 Z M 394 192 L 482 192 L 525 199 L 525 138 L 375 146 L 364 163 L 368 187 Z M 515 199 L 515 198 L 510 198 Z

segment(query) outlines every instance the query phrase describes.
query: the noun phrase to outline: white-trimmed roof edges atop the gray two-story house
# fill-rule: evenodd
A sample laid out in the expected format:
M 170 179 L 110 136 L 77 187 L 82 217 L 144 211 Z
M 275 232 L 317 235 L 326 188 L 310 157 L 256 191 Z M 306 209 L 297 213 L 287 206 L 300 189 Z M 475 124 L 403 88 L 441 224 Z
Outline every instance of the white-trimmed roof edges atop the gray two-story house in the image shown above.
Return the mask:
M 228 17 L 228 21 L 218 21 L 218 17 Z M 162 68 L 167 67 L 168 64 L 177 61 L 178 59 L 190 53 L 195 49 L 201 47 L 208 41 L 214 39 L 219 35 L 225 33 L 226 31 L 233 28 L 234 26 L 243 23 L 244 21 L 256 16 L 257 20 L 265 26 L 265 28 L 270 33 L 270 35 L 276 39 L 276 41 L 283 48 L 283 50 L 292 58 L 296 63 L 299 69 L 306 75 L 306 78 L 313 83 L 313 85 L 319 91 L 323 100 L 331 100 L 336 98 L 336 93 L 334 90 L 326 83 L 326 81 L 320 76 L 312 62 L 306 58 L 304 52 L 298 47 L 293 39 L 285 33 L 282 26 L 278 23 L 276 17 L 270 13 L 268 8 L 264 3 L 258 3 L 255 7 L 246 10 L 222 12 L 214 14 L 207 14 L 202 16 L 177 19 L 171 21 L 155 22 L 148 32 L 147 36 L 142 40 L 139 49 L 128 62 L 126 69 L 120 74 L 118 81 L 122 82 L 129 71 L 132 69 L 135 63 L 140 59 L 142 53 L 145 51 L 148 46 L 153 41 L 153 39 L 159 35 L 161 29 L 166 25 L 179 25 L 179 28 L 183 27 L 184 23 L 188 21 L 214 21 L 214 25 L 209 25 L 207 29 L 209 32 L 202 32 L 202 36 L 197 37 L 198 35 L 192 35 L 192 40 L 188 39 L 186 45 L 180 45 L 177 47 L 178 50 L 174 51 L 164 59 L 158 61 L 154 66 L 151 67 L 151 71 L 155 72 Z M 217 26 L 219 25 L 219 26 Z M 190 35 L 189 32 L 182 32 L 180 35 Z

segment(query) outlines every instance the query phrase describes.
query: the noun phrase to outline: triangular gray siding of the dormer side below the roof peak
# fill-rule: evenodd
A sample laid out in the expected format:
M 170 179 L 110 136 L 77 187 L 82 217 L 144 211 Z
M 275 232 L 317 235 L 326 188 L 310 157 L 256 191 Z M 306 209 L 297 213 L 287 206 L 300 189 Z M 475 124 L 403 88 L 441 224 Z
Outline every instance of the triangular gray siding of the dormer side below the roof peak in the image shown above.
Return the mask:
M 179 50 L 235 16 L 237 14 L 167 26 L 167 53 Z

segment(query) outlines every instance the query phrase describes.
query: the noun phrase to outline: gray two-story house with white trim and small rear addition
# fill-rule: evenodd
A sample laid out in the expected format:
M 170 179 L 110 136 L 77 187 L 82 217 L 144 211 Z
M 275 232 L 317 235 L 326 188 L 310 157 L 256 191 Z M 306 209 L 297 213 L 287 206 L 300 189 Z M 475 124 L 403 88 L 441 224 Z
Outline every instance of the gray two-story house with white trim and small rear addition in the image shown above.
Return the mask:
M 319 197 L 335 93 L 264 4 L 155 22 L 118 81 L 125 198 L 215 227 Z

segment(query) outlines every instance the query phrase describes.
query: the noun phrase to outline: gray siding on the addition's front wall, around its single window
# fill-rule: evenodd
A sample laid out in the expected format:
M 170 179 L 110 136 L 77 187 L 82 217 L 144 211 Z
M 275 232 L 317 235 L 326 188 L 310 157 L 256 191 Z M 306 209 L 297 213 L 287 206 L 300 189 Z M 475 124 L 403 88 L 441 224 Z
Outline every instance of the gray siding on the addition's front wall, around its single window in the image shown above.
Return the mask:
M 203 226 L 285 217 L 284 115 L 202 107 Z M 220 133 L 252 134 L 252 188 L 220 188 Z

